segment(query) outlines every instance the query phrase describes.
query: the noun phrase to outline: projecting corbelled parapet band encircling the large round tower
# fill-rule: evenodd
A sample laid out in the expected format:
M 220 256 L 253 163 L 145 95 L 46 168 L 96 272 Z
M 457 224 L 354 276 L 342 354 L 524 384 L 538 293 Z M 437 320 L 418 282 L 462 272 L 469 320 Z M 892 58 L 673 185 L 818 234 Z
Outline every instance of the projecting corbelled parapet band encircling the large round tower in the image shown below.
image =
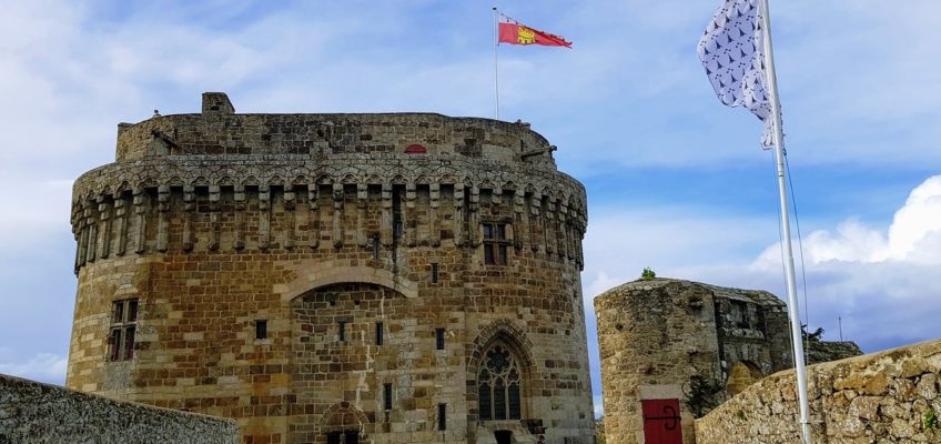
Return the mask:
M 444 226 L 451 229 L 456 245 L 477 246 L 479 236 L 472 226 L 479 224 L 483 196 L 487 218 L 512 222 L 517 250 L 529 248 L 581 265 L 580 242 L 587 220 L 585 191 L 578 182 L 534 165 L 441 158 L 415 162 L 408 154 L 317 160 L 201 155 L 112 163 L 75 182 L 75 268 L 98 258 L 123 255 L 128 245 L 133 253 L 243 250 L 245 218 L 257 219 L 253 228 L 257 242 L 251 248 L 259 250 L 290 250 L 303 238 L 310 248 L 322 246 L 322 241 L 328 242 L 323 246 L 351 243 L 365 248 L 374 235 L 388 246 L 393 193 L 402 194 L 398 213 L 404 220 L 411 219 L 409 213 L 417 214 L 418 202 L 427 205 L 421 215 L 427 224 L 425 233 L 403 230 L 403 246 L 415 246 L 419 236 L 423 244 L 439 246 Z M 380 199 L 371 200 L 371 193 Z M 272 205 L 277 214 L 272 213 Z M 378 230 L 366 226 L 366 214 L 372 212 L 382 214 L 384 223 Z M 355 213 L 353 226 L 344 225 L 346 213 Z M 272 232 L 272 218 L 277 219 L 276 225 L 292 229 Z M 173 226 L 179 226 L 181 239 L 172 243 L 171 220 L 176 219 L 180 223 Z M 222 226 L 221 219 L 235 223 Z M 328 235 L 311 234 L 322 224 L 330 226 Z M 353 231 L 353 239 L 346 239 L 344 230 Z M 227 244 L 222 238 L 230 240 Z

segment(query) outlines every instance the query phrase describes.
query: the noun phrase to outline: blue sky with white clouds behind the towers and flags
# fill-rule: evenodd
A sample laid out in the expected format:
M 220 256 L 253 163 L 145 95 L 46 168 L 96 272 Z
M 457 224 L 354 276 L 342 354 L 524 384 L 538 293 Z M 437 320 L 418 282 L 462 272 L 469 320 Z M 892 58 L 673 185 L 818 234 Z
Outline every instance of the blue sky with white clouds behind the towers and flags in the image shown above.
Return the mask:
M 645 266 L 785 294 L 761 125 L 696 59 L 719 2 L 498 4 L 575 42 L 499 49 L 500 118 L 588 189 L 590 324 L 591 297 Z M 240 112 L 494 115 L 493 2 L 2 3 L 0 373 L 64 380 L 71 182 L 113 161 L 118 122 L 198 112 L 203 91 Z M 806 315 L 866 351 L 938 337 L 941 2 L 771 3 Z

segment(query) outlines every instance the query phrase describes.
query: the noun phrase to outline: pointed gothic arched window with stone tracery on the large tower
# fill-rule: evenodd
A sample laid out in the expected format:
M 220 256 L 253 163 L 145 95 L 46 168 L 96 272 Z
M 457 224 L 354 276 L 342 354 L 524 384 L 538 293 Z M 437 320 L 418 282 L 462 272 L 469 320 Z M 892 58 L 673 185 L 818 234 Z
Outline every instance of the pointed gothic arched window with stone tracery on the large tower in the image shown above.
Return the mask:
M 519 363 L 503 345 L 490 346 L 477 374 L 477 400 L 480 421 L 519 420 Z

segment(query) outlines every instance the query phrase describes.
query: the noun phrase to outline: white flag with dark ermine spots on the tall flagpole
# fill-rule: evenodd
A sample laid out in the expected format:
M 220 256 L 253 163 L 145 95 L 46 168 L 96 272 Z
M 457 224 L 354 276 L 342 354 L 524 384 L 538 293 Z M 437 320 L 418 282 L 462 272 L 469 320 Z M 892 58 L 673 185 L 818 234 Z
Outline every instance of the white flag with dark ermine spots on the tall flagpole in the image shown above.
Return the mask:
M 765 33 L 760 0 L 725 0 L 697 52 L 719 100 L 745 107 L 765 122 L 761 144 L 773 147 L 771 103 L 765 88 Z

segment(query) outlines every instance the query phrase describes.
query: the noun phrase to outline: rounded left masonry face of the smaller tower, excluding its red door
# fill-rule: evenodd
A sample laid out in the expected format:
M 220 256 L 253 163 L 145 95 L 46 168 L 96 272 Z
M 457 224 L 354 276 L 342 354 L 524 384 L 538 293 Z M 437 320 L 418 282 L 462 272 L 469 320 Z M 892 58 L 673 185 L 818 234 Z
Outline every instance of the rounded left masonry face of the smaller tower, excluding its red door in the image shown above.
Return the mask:
M 682 401 L 692 375 L 720 376 L 714 310 L 706 289 L 671 280 L 631 282 L 595 299 L 606 442 L 644 442 L 642 398 Z M 694 417 L 682 405 L 680 414 L 691 443 Z

